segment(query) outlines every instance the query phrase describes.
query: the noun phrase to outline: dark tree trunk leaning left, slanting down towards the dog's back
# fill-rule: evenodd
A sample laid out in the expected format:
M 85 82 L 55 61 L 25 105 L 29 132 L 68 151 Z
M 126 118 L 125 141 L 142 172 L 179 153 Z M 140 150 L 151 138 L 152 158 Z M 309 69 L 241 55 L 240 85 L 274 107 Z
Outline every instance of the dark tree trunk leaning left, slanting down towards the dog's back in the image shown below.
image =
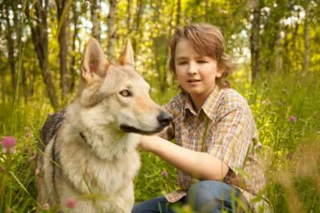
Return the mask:
M 32 41 L 37 53 L 38 62 L 43 76 L 43 82 L 46 84 L 46 90 L 50 99 L 50 103 L 52 104 L 53 108 L 58 109 L 59 101 L 57 94 L 55 93 L 55 86 L 51 80 L 51 74 L 49 70 L 47 22 L 48 0 L 36 1 L 34 9 L 34 16 L 36 16 L 36 18 L 35 20 L 30 21 Z M 26 6 L 26 16 L 31 19 L 28 6 Z M 36 23 L 33 23 L 33 21 Z

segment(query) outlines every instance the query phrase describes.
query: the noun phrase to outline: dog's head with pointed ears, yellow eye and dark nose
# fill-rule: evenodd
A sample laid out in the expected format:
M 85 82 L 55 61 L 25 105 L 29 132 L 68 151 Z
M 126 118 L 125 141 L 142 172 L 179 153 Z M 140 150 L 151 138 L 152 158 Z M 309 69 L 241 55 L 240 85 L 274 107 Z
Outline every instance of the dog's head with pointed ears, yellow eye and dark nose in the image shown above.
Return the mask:
M 168 126 L 172 116 L 150 98 L 150 86 L 134 68 L 130 40 L 114 64 L 91 38 L 82 60 L 80 104 L 86 121 L 100 128 L 152 134 Z M 92 126 L 92 125 L 90 125 Z

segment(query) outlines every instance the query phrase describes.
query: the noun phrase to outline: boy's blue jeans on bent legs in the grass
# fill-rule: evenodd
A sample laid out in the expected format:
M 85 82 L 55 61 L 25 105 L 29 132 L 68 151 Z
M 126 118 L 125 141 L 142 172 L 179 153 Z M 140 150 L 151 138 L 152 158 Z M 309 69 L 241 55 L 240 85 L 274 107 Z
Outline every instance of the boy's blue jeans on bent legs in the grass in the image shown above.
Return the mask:
M 242 203 L 239 205 L 239 203 Z M 132 213 L 163 212 L 174 213 L 174 206 L 189 204 L 193 211 L 202 212 L 251 212 L 250 205 L 240 190 L 225 182 L 203 180 L 192 185 L 186 197 L 170 203 L 165 197 L 156 197 L 134 205 Z

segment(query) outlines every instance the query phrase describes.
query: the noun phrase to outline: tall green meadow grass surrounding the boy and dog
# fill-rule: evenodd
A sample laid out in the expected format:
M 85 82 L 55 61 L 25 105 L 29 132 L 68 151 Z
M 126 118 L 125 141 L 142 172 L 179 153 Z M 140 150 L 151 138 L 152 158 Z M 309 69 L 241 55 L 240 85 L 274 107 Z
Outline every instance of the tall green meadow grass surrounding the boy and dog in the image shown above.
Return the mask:
M 238 72 L 232 82 L 250 104 L 265 146 L 265 194 L 275 212 L 320 212 L 320 73 L 250 84 Z M 165 94 L 154 91 L 152 97 L 164 104 L 177 92 L 175 85 Z M 53 109 L 41 94 L 26 103 L 18 99 L 13 106 L 0 103 L 0 137 L 15 136 L 18 141 L 16 153 L 0 152 L 0 212 L 35 212 L 36 140 Z M 151 153 L 141 155 L 142 168 L 134 180 L 136 202 L 175 190 L 175 169 Z M 164 171 L 167 176 L 161 175 Z M 187 207 L 179 211 L 190 212 Z

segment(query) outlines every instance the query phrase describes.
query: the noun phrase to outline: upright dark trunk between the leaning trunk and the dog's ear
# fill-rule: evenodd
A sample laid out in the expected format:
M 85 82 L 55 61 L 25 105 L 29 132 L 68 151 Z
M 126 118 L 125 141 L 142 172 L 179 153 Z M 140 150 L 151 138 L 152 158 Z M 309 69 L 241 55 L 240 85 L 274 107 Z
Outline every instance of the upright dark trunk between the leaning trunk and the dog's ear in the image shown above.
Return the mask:
M 63 99 L 68 97 L 69 87 L 68 87 L 68 67 L 67 67 L 67 53 L 68 53 L 68 43 L 67 43 L 67 26 L 68 26 L 68 15 L 63 13 L 66 9 L 66 0 L 55 0 L 57 6 L 57 16 L 60 31 L 58 32 L 59 40 L 59 59 L 60 59 L 60 88 L 62 91 Z

